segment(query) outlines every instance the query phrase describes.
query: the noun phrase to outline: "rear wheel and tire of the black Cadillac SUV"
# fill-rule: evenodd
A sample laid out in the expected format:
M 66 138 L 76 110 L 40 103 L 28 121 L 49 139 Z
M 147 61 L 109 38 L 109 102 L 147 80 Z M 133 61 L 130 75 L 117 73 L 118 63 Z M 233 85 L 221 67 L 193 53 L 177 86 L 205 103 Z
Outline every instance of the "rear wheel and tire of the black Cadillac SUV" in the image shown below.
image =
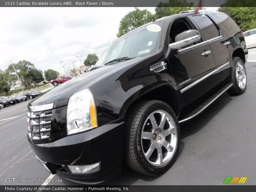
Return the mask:
M 240 95 L 245 92 L 247 85 L 246 70 L 243 60 L 239 57 L 232 59 L 230 81 L 233 86 L 228 90 L 229 94 Z

